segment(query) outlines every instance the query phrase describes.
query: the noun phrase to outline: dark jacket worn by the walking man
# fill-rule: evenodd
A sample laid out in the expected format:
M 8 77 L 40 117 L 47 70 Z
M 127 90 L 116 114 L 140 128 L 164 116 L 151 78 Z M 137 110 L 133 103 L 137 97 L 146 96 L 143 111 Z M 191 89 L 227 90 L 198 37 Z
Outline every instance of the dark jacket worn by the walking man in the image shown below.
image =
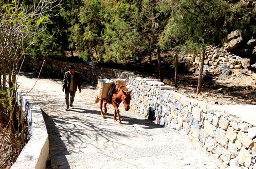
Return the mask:
M 71 73 L 70 71 L 65 72 L 64 79 L 63 79 L 63 85 L 62 87 L 65 88 L 65 90 L 69 90 L 70 87 L 70 82 L 71 82 Z M 74 72 L 74 77 L 73 77 L 73 91 L 76 92 L 78 89 L 81 89 L 81 80 L 80 80 L 80 73 L 77 71 Z

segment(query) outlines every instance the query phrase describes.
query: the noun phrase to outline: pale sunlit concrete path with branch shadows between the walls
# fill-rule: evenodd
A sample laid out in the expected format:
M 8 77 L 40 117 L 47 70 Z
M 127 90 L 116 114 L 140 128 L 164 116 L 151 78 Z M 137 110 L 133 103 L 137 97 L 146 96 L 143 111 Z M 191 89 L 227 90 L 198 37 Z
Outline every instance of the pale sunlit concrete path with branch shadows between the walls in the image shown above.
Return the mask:
M 35 74 L 18 79 L 20 88 L 29 91 Z M 41 78 L 28 94 L 40 105 L 46 122 L 52 169 L 216 169 L 222 163 L 150 120 L 120 107 L 122 124 L 113 120 L 108 105 L 106 119 L 94 103 L 95 87 L 83 85 L 76 92 L 74 109 L 64 111 L 62 80 Z

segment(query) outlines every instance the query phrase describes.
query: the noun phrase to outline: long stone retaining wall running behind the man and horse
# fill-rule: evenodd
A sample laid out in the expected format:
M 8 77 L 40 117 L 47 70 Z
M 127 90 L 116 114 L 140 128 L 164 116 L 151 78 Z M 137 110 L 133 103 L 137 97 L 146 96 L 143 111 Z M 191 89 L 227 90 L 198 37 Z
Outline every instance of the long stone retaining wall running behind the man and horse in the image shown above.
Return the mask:
M 30 60 L 26 70 L 39 71 L 39 61 Z M 38 64 L 39 63 L 39 64 Z M 47 61 L 43 73 L 63 76 L 70 63 Z M 29 65 L 29 67 L 28 67 Z M 209 153 L 220 157 L 232 168 L 236 166 L 256 169 L 256 116 L 243 112 L 236 116 L 225 113 L 224 108 L 192 100 L 172 90 L 161 90 L 158 86 L 126 71 L 107 69 L 74 63 L 82 73 L 82 79 L 96 82 L 98 78 L 123 78 L 132 91 L 132 106 L 142 116 L 155 120 L 156 124 L 169 127 L 181 136 L 199 143 Z M 256 106 L 251 109 L 256 110 Z M 251 111 L 252 112 L 252 111 Z M 248 119 L 248 118 L 247 118 Z

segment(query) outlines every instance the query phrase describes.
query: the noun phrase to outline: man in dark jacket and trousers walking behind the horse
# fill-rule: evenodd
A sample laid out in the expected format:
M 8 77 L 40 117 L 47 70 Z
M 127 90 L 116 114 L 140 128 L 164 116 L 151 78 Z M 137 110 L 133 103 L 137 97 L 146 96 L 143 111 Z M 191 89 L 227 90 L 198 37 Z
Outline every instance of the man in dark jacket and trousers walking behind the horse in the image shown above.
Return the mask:
M 65 72 L 62 91 L 65 91 L 65 100 L 66 100 L 66 111 L 68 111 L 69 107 L 73 108 L 73 102 L 76 95 L 77 86 L 79 92 L 81 92 L 81 80 L 80 73 L 75 71 L 74 65 L 69 65 L 69 71 Z M 70 102 L 69 102 L 69 94 L 70 94 Z

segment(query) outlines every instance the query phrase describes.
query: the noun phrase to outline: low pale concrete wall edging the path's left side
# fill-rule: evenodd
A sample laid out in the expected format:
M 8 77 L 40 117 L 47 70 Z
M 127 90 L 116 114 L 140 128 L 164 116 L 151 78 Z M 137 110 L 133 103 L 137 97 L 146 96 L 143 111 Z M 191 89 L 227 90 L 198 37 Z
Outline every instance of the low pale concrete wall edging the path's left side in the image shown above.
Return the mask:
M 42 111 L 32 98 L 21 95 L 22 93 L 19 91 L 18 100 L 22 100 L 22 110 L 28 112 L 31 138 L 11 168 L 45 169 L 49 157 L 49 141 Z

